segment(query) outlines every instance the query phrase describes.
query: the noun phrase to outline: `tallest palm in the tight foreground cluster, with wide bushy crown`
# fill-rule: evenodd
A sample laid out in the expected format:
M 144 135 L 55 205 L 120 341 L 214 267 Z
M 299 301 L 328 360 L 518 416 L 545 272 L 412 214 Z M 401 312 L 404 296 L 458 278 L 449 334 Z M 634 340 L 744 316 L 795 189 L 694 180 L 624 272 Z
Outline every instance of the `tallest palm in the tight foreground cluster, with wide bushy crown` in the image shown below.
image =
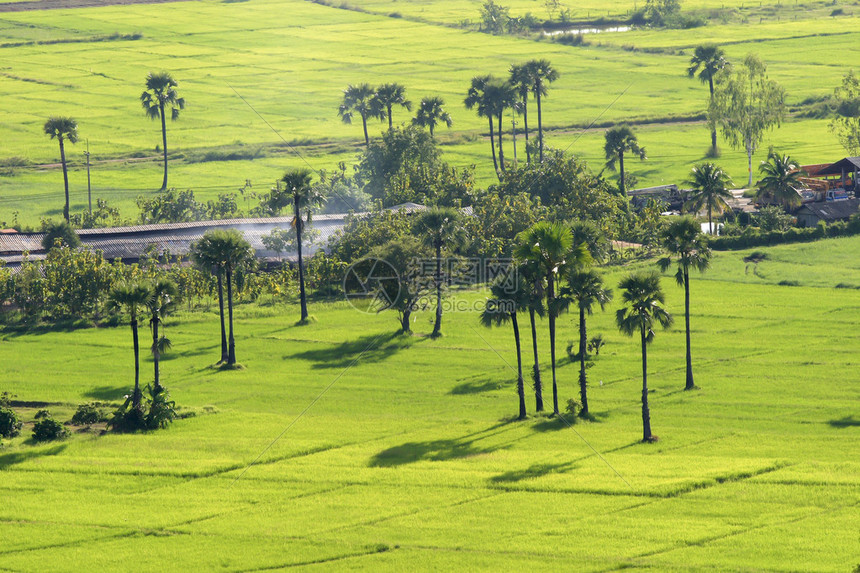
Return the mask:
M 555 374 L 555 319 L 562 310 L 556 299 L 556 284 L 560 273 L 568 266 L 581 266 L 590 260 L 582 245 L 573 249 L 573 235 L 561 223 L 541 221 L 517 237 L 516 258 L 535 265 L 546 279 L 546 307 L 549 317 L 549 347 L 552 366 L 553 413 L 558 414 L 558 384 Z

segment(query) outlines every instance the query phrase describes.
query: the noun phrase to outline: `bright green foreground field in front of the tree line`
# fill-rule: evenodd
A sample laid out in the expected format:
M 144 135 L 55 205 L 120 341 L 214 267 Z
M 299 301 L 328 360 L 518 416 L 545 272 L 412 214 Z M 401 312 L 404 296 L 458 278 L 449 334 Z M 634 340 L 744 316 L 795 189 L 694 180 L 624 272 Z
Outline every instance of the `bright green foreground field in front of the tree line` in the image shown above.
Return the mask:
M 694 392 L 682 390 L 683 291 L 664 278 L 679 320 L 649 349 L 653 445 L 637 442 L 638 345 L 613 326 L 617 303 L 589 319 L 607 344 L 589 370 L 596 421 L 575 431 L 534 414 L 532 396 L 529 419 L 513 421 L 510 331 L 484 329 L 474 313 L 446 314 L 445 336 L 432 340 L 432 311 L 407 338 L 393 335 L 392 314 L 345 302 L 313 304 L 317 320 L 305 326 L 294 305 L 242 305 L 245 369 L 231 372 L 209 367 L 214 312 L 179 314 L 162 376 L 197 415 L 147 435 L 7 440 L 0 561 L 850 571 L 860 549 L 860 292 L 836 287 L 860 284 L 860 239 L 757 250 L 767 258 L 755 273 L 745 271 L 749 252 L 717 253 L 694 277 Z M 607 282 L 652 264 L 613 267 Z M 778 286 L 785 280 L 798 286 Z M 559 321 L 560 348 L 576 337 L 574 319 Z M 4 334 L 0 390 L 65 404 L 50 407 L 58 416 L 118 400 L 131 379 L 126 331 Z M 561 402 L 576 396 L 577 373 L 561 359 Z

